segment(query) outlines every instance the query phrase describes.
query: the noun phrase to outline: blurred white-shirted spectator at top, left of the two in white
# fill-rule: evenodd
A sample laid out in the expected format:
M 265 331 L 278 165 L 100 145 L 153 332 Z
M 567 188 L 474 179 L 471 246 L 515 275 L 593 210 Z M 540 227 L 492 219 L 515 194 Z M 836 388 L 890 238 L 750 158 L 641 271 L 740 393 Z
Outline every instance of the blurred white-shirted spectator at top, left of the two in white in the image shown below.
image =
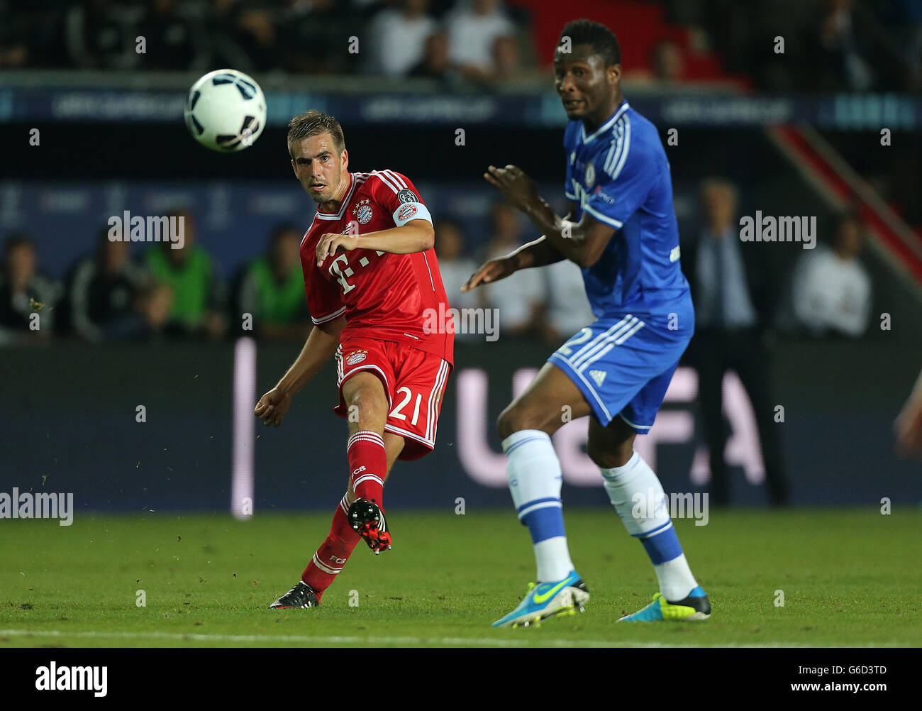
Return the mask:
M 369 27 L 372 74 L 403 77 L 420 64 L 426 40 L 438 30 L 428 14 L 429 0 L 402 0 L 400 9 L 380 12 Z

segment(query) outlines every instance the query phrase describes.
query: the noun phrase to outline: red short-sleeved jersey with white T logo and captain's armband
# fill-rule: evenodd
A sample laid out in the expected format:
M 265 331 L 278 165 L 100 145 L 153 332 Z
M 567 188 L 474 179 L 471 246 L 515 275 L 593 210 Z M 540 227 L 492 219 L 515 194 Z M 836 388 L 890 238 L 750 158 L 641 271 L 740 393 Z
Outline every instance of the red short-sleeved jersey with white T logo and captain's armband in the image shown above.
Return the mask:
M 318 210 L 301 241 L 308 310 L 314 324 L 345 315 L 343 340 L 408 343 L 453 363 L 454 328 L 434 249 L 410 255 L 354 249 L 328 255 L 317 267 L 317 243 L 327 232 L 367 234 L 414 219 L 432 221 L 407 176 L 387 170 L 349 173 L 337 214 Z

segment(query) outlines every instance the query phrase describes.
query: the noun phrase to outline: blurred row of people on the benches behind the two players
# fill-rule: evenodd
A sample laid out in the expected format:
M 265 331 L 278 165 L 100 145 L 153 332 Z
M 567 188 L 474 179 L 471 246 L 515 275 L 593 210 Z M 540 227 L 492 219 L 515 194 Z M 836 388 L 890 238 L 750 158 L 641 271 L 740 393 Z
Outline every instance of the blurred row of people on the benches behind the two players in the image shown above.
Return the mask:
M 740 342 L 762 342 L 766 332 L 778 328 L 821 338 L 864 335 L 873 294 L 859 258 L 863 226 L 857 216 L 844 214 L 822 226 L 816 248 L 803 250 L 792 273 L 779 276 L 767 272 L 748 248 L 751 243 L 739 240 L 737 201 L 733 184 L 704 181 L 698 226 L 682 235 L 681 265 L 698 310 L 697 331 L 715 336 L 710 347 L 732 351 L 740 337 L 745 337 Z M 49 338 L 101 343 L 306 337 L 311 322 L 300 228 L 275 226 L 263 253 L 225 278 L 214 255 L 196 242 L 195 215 L 174 211 L 172 216 L 184 220 L 182 248 L 170 242 L 113 242 L 106 227 L 92 253 L 78 259 L 60 282 L 43 275 L 29 235 L 7 236 L 0 264 L 0 345 Z M 566 260 L 461 293 L 483 261 L 507 255 L 535 236 L 504 202 L 492 206 L 490 225 L 486 241 L 477 241 L 483 246 L 471 250 L 464 220 L 436 221 L 435 250 L 451 306 L 498 309 L 502 337 L 539 338 L 554 346 L 594 320 L 580 270 Z M 133 246 L 143 247 L 136 259 Z M 457 338 L 473 343 L 483 336 Z

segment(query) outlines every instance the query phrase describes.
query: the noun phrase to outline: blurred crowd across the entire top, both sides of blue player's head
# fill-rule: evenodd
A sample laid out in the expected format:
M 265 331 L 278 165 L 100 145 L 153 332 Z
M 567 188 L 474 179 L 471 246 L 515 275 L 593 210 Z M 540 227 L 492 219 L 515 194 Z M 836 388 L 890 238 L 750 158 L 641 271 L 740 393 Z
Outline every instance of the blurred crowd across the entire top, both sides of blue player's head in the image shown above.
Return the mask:
M 226 65 L 257 74 L 489 82 L 534 71 L 534 30 L 550 2 L 556 0 L 0 0 L 0 67 L 204 72 Z M 602 5 L 618 17 L 617 2 Z M 643 62 L 625 66 L 628 77 L 640 70 L 640 78 L 682 81 L 692 54 L 713 51 L 724 72 L 764 90 L 922 89 L 918 0 L 632 5 L 660 8 L 660 24 L 637 34 L 662 37 Z M 632 36 L 631 28 L 613 30 Z

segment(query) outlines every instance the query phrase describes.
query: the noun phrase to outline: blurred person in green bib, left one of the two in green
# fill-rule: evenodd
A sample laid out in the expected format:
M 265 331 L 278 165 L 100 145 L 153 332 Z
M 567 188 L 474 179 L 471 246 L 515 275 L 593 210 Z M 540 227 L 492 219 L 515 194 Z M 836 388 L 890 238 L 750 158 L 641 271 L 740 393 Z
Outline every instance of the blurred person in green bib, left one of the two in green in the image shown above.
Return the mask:
M 205 334 L 219 338 L 227 330 L 223 317 L 223 289 L 214 260 L 195 245 L 195 220 L 188 212 L 174 212 L 170 217 L 183 218 L 182 249 L 163 242 L 148 249 L 146 261 L 151 276 L 168 285 L 173 294 L 170 310 L 171 327 L 186 334 Z

